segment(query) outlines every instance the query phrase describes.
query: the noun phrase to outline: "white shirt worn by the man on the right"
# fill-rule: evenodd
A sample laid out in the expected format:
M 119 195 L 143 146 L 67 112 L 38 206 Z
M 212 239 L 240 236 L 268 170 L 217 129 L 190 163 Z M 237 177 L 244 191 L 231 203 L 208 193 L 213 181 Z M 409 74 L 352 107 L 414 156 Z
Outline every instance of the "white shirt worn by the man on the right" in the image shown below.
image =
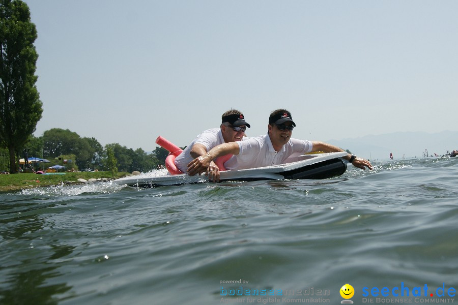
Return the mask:
M 288 163 L 288 158 L 310 153 L 313 148 L 310 141 L 290 139 L 281 147 L 280 151 L 275 151 L 269 134 L 249 138 L 237 144 L 239 144 L 239 154 L 232 156 L 224 163 L 224 167 L 228 170 Z

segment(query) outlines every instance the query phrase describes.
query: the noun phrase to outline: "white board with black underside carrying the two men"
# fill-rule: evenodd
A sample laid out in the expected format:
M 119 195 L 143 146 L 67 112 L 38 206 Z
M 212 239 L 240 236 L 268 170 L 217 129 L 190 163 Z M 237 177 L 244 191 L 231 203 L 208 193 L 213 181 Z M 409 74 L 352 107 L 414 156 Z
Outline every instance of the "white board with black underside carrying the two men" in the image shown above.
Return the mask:
M 282 179 L 325 179 L 343 174 L 347 170 L 347 162 L 341 153 L 303 155 L 289 159 L 291 163 L 257 167 L 242 170 L 226 170 L 220 172 L 221 181 L 253 181 Z M 293 162 L 294 161 L 294 162 Z M 157 187 L 210 182 L 205 175 L 189 176 L 187 174 L 169 175 L 165 172 L 153 171 L 136 176 L 124 177 L 113 181 L 115 184 L 132 187 Z

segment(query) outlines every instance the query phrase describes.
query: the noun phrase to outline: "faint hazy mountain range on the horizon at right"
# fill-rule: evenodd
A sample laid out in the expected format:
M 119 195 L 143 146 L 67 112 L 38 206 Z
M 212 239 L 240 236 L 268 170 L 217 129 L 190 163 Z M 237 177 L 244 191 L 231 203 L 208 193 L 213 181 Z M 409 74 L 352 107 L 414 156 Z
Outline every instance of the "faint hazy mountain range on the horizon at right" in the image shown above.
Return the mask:
M 443 131 L 439 133 L 426 132 L 396 132 L 382 135 L 367 135 L 354 139 L 326 141 L 342 149 L 349 149 L 353 154 L 370 160 L 389 159 L 390 153 L 394 159 L 423 157 L 423 151 L 439 156 L 447 150 L 458 149 L 458 132 Z

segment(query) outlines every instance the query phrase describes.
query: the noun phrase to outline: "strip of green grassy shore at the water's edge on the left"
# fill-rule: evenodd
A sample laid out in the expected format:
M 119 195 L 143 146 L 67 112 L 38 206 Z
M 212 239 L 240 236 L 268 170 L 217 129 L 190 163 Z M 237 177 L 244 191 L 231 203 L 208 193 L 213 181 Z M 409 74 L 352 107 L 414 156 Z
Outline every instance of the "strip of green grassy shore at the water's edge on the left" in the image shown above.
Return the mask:
M 115 178 L 126 176 L 128 173 L 121 172 Z M 0 175 L 0 192 L 15 192 L 23 189 L 32 189 L 39 187 L 49 187 L 62 185 L 82 184 L 78 179 L 89 180 L 91 178 L 109 178 L 113 176 L 111 172 L 65 172 L 64 174 L 38 175 L 34 173 Z

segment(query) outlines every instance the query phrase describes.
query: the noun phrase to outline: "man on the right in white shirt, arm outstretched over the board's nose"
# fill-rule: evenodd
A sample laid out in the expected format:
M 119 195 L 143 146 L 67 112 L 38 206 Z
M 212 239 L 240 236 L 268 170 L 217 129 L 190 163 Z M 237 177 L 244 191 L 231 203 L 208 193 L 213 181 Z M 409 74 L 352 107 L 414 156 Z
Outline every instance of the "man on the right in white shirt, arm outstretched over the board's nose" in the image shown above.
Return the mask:
M 232 154 L 224 163 L 227 170 L 238 170 L 263 167 L 292 162 L 292 158 L 314 151 L 333 153 L 345 151 L 337 146 L 319 142 L 291 138 L 296 124 L 291 113 L 286 109 L 277 109 L 269 116 L 268 132 L 266 135 L 246 139 L 241 142 L 224 143 L 213 147 L 207 154 L 199 156 L 188 163 L 187 172 L 190 176 L 205 172 L 210 180 L 218 181 L 212 174 L 210 163 L 216 158 Z M 368 160 L 348 154 L 343 157 L 353 166 L 361 169 L 372 169 Z

